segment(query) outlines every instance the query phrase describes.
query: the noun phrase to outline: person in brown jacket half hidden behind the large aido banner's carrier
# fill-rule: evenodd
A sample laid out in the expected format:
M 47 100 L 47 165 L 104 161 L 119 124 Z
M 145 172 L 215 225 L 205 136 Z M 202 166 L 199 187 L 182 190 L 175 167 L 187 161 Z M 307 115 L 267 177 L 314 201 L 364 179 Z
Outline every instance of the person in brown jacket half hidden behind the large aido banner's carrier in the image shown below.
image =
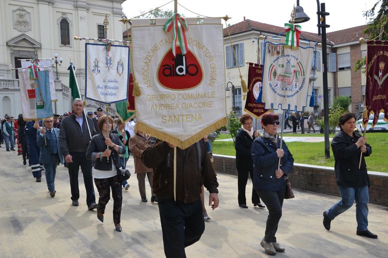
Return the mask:
M 146 142 L 148 138 L 146 134 L 137 131 L 134 136 L 129 138 L 129 150 L 132 152 L 134 161 L 135 161 L 135 174 L 137 177 L 137 181 L 139 182 L 139 192 L 140 197 L 142 198 L 142 202 L 147 202 L 146 197 L 146 175 L 148 178 L 149 186 L 151 187 L 151 202 L 158 202 L 156 199 L 156 195 L 152 190 L 152 178 L 153 172 L 152 168 L 148 168 L 143 164 L 142 154 L 144 150 L 146 150 Z

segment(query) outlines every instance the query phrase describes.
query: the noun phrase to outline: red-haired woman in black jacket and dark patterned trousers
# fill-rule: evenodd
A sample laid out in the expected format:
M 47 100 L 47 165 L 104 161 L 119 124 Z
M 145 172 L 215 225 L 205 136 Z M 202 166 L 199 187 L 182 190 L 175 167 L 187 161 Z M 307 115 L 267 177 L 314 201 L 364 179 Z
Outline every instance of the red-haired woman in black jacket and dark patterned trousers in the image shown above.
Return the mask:
M 86 151 L 86 158 L 95 160 L 93 176 L 99 194 L 97 218 L 104 222 L 105 206 L 110 199 L 112 188 L 114 227 L 116 231 L 121 232 L 120 217 L 123 194 L 114 160 L 117 162 L 117 167 L 123 167 L 119 154 L 125 154 L 125 149 L 118 135 L 110 133 L 109 138 L 106 137 L 112 130 L 113 119 L 108 116 L 108 126 L 106 120 L 106 115 L 98 119 L 97 127 L 101 132 L 92 137 Z

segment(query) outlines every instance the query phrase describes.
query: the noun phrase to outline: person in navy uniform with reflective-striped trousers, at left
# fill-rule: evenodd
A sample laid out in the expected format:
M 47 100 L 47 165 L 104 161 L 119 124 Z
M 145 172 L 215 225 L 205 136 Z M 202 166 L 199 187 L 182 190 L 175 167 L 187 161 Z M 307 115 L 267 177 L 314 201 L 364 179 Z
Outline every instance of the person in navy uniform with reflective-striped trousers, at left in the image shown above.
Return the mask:
M 40 149 L 36 144 L 36 132 L 40 129 L 40 122 L 38 121 L 28 121 L 26 124 L 26 136 L 27 136 L 27 145 L 28 145 L 28 162 L 31 166 L 31 172 L 36 182 L 41 182 L 42 177 L 42 167 L 39 164 L 39 153 Z

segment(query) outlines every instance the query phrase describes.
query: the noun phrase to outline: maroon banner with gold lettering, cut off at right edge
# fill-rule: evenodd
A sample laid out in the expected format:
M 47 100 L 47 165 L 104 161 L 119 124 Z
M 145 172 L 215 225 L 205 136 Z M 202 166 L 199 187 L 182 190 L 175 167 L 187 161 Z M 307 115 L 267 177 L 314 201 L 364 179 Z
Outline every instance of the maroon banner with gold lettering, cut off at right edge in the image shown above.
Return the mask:
M 388 42 L 368 41 L 366 61 L 367 83 L 365 87 L 365 105 L 363 123 L 368 123 L 374 113 L 372 127 L 377 123 L 379 113 L 385 114 L 388 121 Z

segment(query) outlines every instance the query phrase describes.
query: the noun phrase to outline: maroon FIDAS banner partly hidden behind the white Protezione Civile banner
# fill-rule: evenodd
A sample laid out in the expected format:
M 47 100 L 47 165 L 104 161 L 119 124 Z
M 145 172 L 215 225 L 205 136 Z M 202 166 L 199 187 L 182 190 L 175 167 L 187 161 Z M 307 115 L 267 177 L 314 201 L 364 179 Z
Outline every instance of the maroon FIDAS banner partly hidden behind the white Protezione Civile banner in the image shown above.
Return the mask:
M 256 103 L 261 89 L 263 75 L 263 66 L 257 63 L 249 63 L 248 68 L 248 92 L 244 111 L 255 118 L 260 118 L 266 112 L 270 111 L 264 108 L 264 103 Z

